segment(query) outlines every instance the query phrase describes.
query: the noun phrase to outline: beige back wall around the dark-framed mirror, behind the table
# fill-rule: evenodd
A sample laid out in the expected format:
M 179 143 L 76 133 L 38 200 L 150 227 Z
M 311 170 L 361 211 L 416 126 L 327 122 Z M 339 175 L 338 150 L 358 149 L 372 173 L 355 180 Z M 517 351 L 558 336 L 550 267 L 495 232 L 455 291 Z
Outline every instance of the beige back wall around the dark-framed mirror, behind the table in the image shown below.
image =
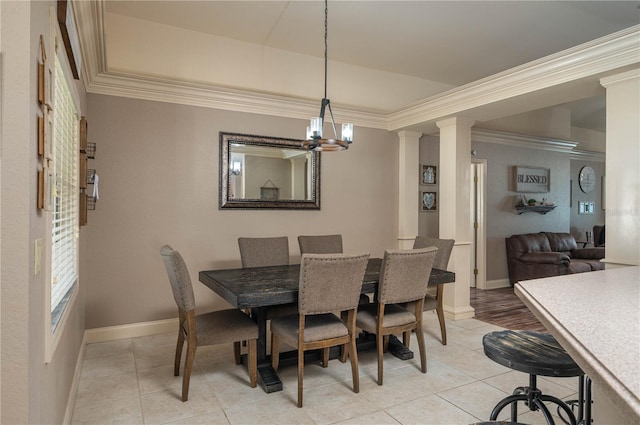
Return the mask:
M 83 252 L 88 329 L 176 316 L 159 250 L 182 252 L 198 310 L 228 307 L 198 271 L 239 267 L 239 236 L 341 233 L 346 252 L 396 246 L 397 136 L 355 129 L 348 151 L 322 154 L 320 211 L 218 209 L 219 132 L 299 138 L 306 122 L 158 102 L 89 96 L 91 165 L 100 200 Z M 83 280 L 85 281 L 85 280 Z

